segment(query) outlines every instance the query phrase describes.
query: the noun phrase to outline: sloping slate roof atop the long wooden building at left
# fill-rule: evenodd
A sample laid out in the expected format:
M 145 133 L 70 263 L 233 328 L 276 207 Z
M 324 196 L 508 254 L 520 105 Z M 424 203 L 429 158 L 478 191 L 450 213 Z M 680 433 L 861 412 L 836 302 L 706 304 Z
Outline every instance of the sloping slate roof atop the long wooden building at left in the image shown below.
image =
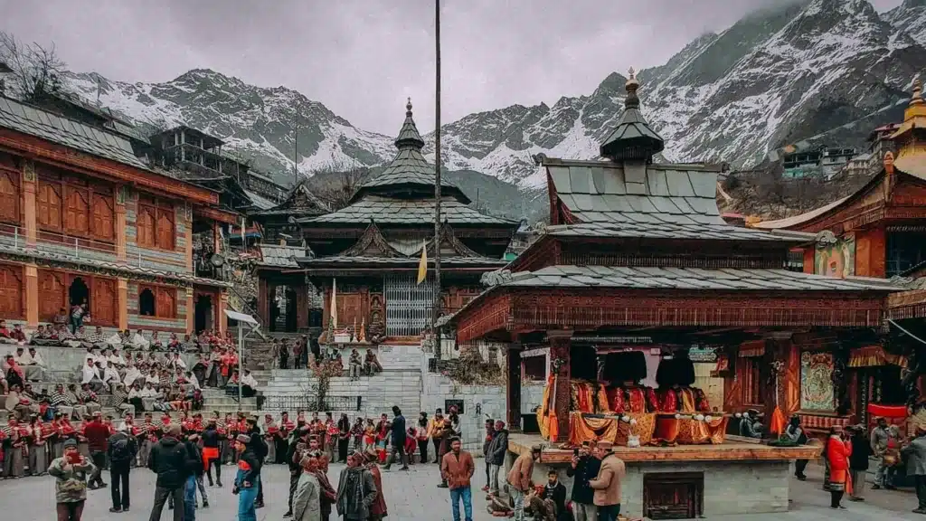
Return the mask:
M 125 137 L 0 96 L 0 127 L 148 170 Z

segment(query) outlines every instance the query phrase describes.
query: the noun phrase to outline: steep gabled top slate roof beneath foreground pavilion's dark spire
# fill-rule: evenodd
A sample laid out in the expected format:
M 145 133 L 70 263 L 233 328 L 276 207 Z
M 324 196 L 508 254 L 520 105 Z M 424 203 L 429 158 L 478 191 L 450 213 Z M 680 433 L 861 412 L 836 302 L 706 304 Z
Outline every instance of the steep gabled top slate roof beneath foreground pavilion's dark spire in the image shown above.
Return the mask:
M 557 197 L 580 222 L 726 225 L 715 199 L 719 169 L 565 159 L 545 159 L 544 166 Z

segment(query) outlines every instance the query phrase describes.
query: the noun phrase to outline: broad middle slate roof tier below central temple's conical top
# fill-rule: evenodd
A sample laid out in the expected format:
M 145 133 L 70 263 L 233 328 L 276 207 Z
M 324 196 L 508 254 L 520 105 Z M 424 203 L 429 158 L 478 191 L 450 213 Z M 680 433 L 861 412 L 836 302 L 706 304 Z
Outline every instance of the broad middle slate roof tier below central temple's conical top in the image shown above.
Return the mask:
M 451 224 L 506 224 L 518 222 L 502 217 L 485 215 L 473 210 L 452 197 L 441 201 L 441 219 Z M 393 197 L 367 196 L 356 203 L 318 217 L 298 219 L 302 223 L 326 222 L 332 224 L 428 224 L 434 222 L 433 199 L 396 199 Z

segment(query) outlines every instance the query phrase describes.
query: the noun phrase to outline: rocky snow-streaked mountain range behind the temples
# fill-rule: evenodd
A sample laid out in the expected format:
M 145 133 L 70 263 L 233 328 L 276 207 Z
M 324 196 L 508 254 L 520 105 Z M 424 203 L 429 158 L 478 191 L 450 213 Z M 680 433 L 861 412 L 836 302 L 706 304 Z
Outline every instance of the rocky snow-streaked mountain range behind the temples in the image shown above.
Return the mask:
M 749 165 L 807 139 L 862 146 L 871 128 L 898 118 L 910 83 L 926 70 L 924 44 L 926 0 L 905 0 L 885 13 L 866 0 L 789 3 L 702 35 L 665 65 L 641 71 L 643 110 L 666 140 L 669 160 Z M 624 81 L 611 72 L 593 93 L 552 107 L 514 105 L 446 124 L 444 164 L 540 186 L 535 154 L 597 156 L 619 118 Z M 293 169 L 299 105 L 300 172 L 382 164 L 394 153 L 393 136 L 358 129 L 319 102 L 212 70 L 167 83 L 120 83 L 94 73 L 71 74 L 69 82 L 133 121 L 184 123 L 217 135 L 281 179 Z

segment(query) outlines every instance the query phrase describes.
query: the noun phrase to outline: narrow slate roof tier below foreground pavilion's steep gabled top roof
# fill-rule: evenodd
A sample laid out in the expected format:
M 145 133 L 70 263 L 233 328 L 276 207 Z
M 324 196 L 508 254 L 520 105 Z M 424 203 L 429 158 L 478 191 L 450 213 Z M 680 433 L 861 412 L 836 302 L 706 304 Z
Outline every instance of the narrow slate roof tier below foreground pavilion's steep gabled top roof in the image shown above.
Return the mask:
M 723 241 L 778 242 L 791 241 L 795 244 L 814 242 L 816 235 L 787 230 L 769 232 L 742 228 L 730 224 L 675 224 L 668 222 L 590 222 L 582 224 L 560 224 L 547 226 L 547 235 L 557 237 L 652 237 L 664 239 L 697 239 Z

